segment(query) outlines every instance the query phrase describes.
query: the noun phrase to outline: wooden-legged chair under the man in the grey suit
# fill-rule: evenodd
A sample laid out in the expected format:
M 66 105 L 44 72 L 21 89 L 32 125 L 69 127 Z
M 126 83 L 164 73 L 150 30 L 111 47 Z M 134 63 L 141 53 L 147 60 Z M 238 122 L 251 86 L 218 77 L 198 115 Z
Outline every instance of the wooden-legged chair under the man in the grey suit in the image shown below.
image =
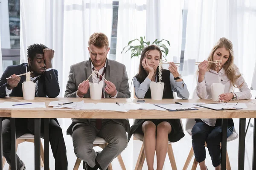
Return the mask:
M 99 146 L 102 149 L 104 149 L 107 145 L 108 145 L 108 143 L 103 138 L 100 138 L 98 136 L 96 136 L 96 139 L 93 142 L 93 147 Z M 117 156 L 117 159 L 119 161 L 119 164 L 120 164 L 122 170 L 126 170 L 125 164 L 124 164 L 124 161 L 122 160 L 121 154 L 119 156 Z M 80 164 L 81 164 L 81 159 L 77 158 L 73 170 L 78 170 Z M 109 164 L 108 170 L 113 170 L 111 164 Z

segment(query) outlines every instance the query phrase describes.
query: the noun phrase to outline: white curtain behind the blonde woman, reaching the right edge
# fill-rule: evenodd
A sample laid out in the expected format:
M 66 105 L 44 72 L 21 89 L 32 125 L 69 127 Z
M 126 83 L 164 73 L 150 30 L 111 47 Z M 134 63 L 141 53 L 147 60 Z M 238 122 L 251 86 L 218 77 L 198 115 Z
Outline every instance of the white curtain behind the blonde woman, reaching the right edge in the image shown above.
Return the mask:
M 207 59 L 213 45 L 226 37 L 233 42 L 235 64 L 250 85 L 256 61 L 256 2 L 252 0 L 189 0 L 183 79 L 195 97 L 195 62 Z M 253 11 L 254 10 L 254 11 Z

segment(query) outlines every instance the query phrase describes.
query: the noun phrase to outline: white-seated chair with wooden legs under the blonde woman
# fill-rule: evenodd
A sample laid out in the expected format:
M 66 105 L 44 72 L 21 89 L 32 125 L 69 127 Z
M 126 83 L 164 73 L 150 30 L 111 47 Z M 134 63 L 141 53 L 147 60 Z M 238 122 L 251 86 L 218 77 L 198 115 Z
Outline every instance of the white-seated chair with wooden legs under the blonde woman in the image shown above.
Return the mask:
M 186 119 L 186 126 L 185 126 L 185 130 L 186 132 L 189 134 L 189 136 L 192 136 L 192 128 L 195 125 L 195 119 Z M 227 142 L 233 141 L 236 138 L 238 138 L 238 133 L 236 133 L 236 129 L 234 128 L 234 132 L 232 135 L 230 135 L 227 138 Z M 207 146 L 206 142 L 205 142 L 205 147 Z M 186 162 L 184 164 L 183 170 L 186 170 L 189 166 L 190 161 L 192 160 L 192 157 L 194 156 L 194 150 L 193 147 L 191 147 L 190 151 L 189 151 L 189 155 L 186 159 Z M 192 165 L 192 169 L 191 170 L 195 170 L 196 167 L 198 165 L 198 162 L 194 159 L 193 161 L 193 165 Z M 227 170 L 231 170 L 231 165 L 230 165 L 230 161 L 229 161 L 229 157 L 227 154 L 227 159 L 226 159 L 226 169 Z

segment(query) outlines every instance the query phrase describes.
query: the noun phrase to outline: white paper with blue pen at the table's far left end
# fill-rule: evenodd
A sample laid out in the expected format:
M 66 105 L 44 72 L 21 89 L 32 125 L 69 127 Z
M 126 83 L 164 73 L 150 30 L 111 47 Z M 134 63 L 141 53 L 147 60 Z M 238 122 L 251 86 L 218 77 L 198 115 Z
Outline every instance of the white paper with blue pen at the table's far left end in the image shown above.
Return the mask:
M 45 102 L 32 102 L 28 105 L 17 105 L 30 102 L 3 102 L 0 103 L 0 108 L 45 108 Z M 13 106 L 17 105 L 17 106 Z

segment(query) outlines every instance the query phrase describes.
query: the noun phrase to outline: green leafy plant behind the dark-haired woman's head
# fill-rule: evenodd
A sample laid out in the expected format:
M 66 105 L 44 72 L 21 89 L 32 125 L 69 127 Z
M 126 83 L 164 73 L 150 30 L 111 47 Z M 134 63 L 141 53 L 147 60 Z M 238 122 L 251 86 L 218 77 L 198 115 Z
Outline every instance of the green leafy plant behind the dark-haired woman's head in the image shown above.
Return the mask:
M 140 40 L 136 38 L 136 39 L 131 40 L 131 41 L 128 42 L 128 45 L 123 48 L 121 54 L 125 51 L 125 49 L 128 48 L 125 51 L 125 53 L 127 51 L 131 51 L 131 58 L 134 57 L 134 56 L 139 57 L 141 55 L 141 51 L 143 50 L 144 47 L 154 44 L 154 45 L 157 45 L 161 49 L 162 57 L 164 59 L 166 59 L 166 56 L 169 53 L 169 49 L 166 47 L 165 44 L 163 44 L 163 41 L 166 41 L 170 45 L 170 42 L 168 40 L 164 40 L 164 39 L 162 39 L 162 40 L 156 39 L 156 40 L 154 40 L 154 42 L 152 42 L 150 44 L 150 41 L 145 42 L 145 36 L 140 37 Z M 132 42 L 139 42 L 138 43 L 139 45 L 131 45 Z

